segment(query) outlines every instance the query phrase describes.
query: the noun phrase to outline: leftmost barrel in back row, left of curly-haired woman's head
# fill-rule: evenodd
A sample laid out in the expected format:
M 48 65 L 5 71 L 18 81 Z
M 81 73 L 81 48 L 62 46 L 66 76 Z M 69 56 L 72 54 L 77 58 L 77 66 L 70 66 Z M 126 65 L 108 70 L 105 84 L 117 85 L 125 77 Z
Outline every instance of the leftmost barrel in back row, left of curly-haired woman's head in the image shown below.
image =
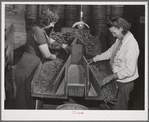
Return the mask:
M 26 5 L 26 19 L 36 20 L 38 15 L 38 5 Z

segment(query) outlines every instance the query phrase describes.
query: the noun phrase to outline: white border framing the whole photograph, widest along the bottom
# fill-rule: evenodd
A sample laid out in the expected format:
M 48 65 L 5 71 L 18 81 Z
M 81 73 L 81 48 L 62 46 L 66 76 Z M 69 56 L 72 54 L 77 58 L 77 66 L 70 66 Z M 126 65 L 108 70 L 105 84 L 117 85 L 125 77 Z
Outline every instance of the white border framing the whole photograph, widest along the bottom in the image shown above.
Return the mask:
M 145 110 L 135 111 L 99 111 L 81 110 L 83 114 L 72 114 L 72 110 L 6 110 L 4 109 L 4 87 L 1 87 L 1 118 L 2 120 L 83 120 L 83 121 L 107 121 L 107 120 L 128 120 L 142 121 L 148 119 L 148 2 L 2 2 L 1 3 L 1 81 L 4 81 L 4 26 L 5 25 L 5 4 L 86 4 L 86 5 L 145 5 Z M 4 86 L 4 82 L 1 82 Z

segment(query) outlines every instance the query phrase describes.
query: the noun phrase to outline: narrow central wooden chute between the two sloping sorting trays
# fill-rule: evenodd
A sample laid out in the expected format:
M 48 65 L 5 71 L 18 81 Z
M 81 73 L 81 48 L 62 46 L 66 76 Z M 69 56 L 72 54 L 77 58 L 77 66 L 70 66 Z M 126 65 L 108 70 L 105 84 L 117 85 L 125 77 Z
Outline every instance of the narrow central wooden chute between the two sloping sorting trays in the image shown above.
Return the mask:
M 75 39 L 75 41 L 77 41 Z M 74 41 L 74 42 L 75 42 Z M 76 43 L 76 42 L 75 42 Z M 70 68 L 70 66 L 72 66 L 71 71 L 75 70 L 75 67 L 77 66 L 81 66 L 84 70 L 84 73 L 86 73 L 87 68 L 85 68 L 85 66 L 82 65 L 82 61 L 83 61 L 83 46 L 79 45 L 79 44 L 72 44 L 72 52 L 71 52 L 71 62 L 69 62 L 69 64 L 67 65 L 67 80 L 68 80 L 68 95 L 69 96 L 75 96 L 75 97 L 83 97 L 85 94 L 85 83 L 86 83 L 86 76 L 84 74 L 82 74 L 80 77 L 82 77 L 83 79 L 81 79 L 82 81 L 71 81 L 71 79 L 68 78 L 68 70 Z M 78 73 L 78 72 L 77 72 Z M 74 74 L 76 75 L 76 74 Z M 80 74 L 78 74 L 79 77 Z M 77 77 L 77 76 L 76 76 Z M 79 79 L 80 80 L 80 79 Z

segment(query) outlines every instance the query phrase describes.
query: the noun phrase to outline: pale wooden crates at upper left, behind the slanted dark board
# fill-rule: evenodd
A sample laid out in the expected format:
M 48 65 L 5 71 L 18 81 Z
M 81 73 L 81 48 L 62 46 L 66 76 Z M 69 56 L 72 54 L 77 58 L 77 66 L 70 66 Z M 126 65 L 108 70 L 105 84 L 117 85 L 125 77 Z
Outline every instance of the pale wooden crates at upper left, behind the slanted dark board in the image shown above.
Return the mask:
M 26 25 L 25 10 L 22 8 L 13 8 L 13 10 L 5 10 L 5 30 L 13 23 L 13 50 L 14 65 L 17 64 L 24 52 L 24 44 L 26 42 Z

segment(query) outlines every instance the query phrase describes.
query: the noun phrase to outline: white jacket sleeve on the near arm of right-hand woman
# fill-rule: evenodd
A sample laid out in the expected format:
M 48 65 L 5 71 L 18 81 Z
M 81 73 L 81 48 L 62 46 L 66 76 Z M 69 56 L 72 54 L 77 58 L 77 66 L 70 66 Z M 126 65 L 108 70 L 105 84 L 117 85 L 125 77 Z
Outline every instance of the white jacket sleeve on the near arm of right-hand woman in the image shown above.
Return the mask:
M 125 57 L 125 68 L 117 72 L 118 78 L 120 80 L 132 77 L 134 75 L 136 72 L 138 56 L 139 50 L 137 50 L 134 46 L 131 46 Z

